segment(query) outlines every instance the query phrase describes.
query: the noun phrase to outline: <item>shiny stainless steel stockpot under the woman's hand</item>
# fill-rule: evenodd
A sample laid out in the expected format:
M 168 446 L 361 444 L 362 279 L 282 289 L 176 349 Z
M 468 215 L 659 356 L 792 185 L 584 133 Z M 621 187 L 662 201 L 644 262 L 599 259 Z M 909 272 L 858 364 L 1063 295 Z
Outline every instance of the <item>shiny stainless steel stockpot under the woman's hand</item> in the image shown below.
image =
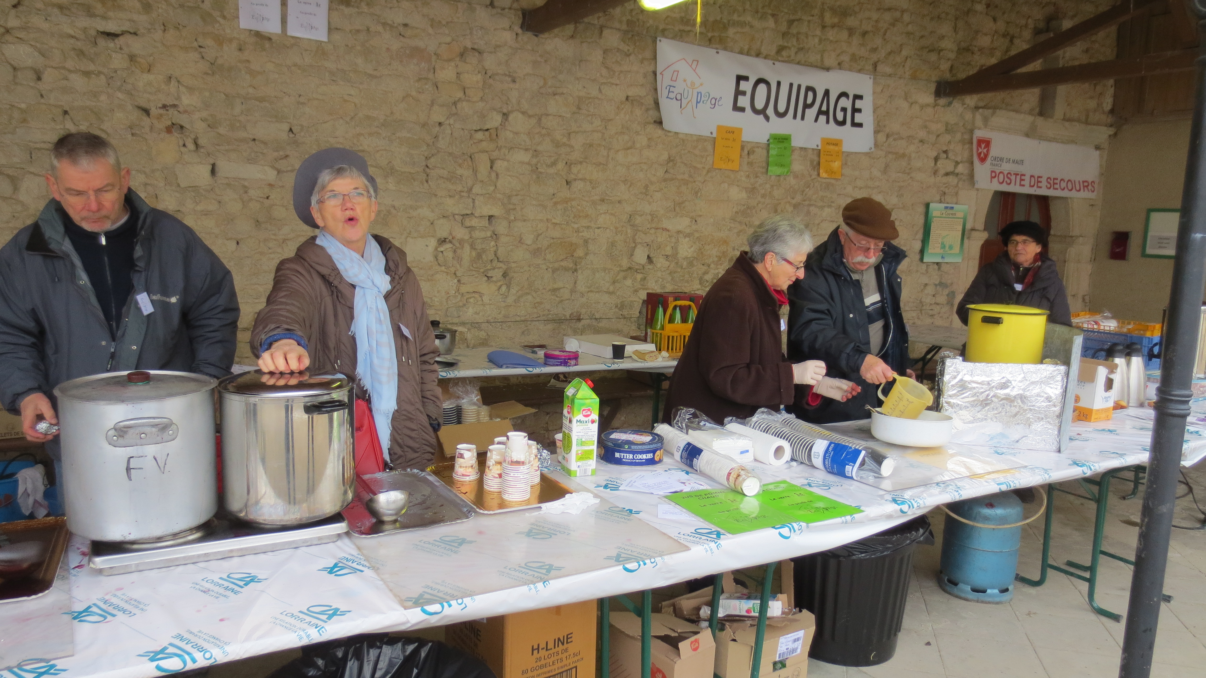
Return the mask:
M 218 394 L 228 512 L 262 525 L 302 525 L 352 501 L 356 402 L 350 379 L 257 369 L 223 379 Z

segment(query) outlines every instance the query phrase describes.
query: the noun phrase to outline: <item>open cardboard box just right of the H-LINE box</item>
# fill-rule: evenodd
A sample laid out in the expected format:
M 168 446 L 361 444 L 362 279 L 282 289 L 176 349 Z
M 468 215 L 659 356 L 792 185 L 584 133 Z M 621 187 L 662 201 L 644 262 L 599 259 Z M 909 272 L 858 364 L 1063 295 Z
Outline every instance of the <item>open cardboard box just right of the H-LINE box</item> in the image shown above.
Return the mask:
M 669 614 L 652 615 L 650 678 L 712 678 L 716 644 L 709 629 Z M 640 678 L 640 618 L 611 613 L 611 678 Z

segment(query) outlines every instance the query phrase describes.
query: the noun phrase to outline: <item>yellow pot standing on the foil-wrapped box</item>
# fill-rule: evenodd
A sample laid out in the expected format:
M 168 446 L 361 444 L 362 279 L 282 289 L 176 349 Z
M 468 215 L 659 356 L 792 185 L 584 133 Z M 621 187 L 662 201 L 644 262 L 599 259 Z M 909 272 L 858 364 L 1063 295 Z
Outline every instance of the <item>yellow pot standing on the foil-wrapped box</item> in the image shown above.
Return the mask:
M 1043 362 L 1043 334 L 1049 311 L 1014 304 L 967 306 L 967 353 L 971 363 Z

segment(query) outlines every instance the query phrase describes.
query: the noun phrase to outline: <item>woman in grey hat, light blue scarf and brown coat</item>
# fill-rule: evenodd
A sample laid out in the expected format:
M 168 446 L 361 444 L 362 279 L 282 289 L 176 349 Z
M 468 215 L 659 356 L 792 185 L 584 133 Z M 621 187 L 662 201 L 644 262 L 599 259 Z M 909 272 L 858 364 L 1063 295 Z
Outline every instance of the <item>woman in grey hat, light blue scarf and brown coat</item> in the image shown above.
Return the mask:
M 293 209 L 318 234 L 276 265 L 251 350 L 265 373 L 355 374 L 385 458 L 426 468 L 440 426 L 439 350 L 406 253 L 369 233 L 376 192 L 368 163 L 347 148 L 302 163 Z

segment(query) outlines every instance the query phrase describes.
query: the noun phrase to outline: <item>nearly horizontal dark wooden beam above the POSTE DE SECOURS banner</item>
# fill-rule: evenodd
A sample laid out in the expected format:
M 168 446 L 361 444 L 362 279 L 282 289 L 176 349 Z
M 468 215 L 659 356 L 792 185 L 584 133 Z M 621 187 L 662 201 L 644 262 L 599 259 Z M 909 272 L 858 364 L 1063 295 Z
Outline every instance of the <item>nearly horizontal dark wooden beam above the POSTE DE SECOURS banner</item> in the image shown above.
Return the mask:
M 1060 66 L 1056 69 L 1042 69 L 978 78 L 966 77 L 955 82 L 939 82 L 935 95 L 966 97 L 968 94 L 988 94 L 990 92 L 1056 87 L 1075 82 L 1094 82 L 1099 80 L 1190 71 L 1194 70 L 1194 62 L 1198 59 L 1198 55 L 1199 51 L 1196 48 L 1177 49 L 1173 52 L 1159 52 L 1142 57 L 1077 64 L 1075 66 Z

